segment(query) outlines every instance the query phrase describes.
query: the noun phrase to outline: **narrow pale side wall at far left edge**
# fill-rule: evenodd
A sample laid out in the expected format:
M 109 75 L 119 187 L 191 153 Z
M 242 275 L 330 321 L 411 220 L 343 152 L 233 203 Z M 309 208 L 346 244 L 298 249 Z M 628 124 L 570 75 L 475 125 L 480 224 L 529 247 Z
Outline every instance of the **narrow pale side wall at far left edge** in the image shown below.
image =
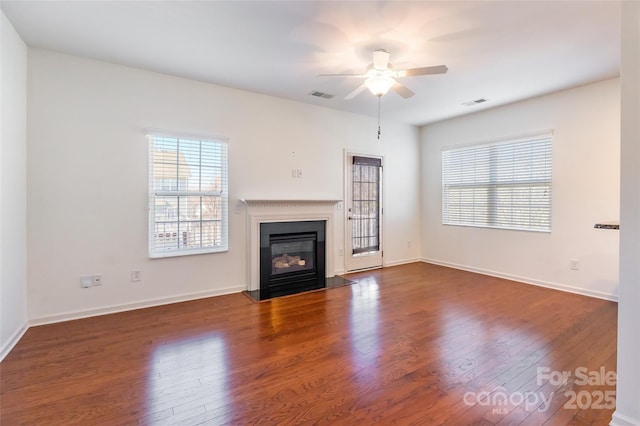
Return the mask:
M 27 327 L 27 47 L 0 17 L 0 360 Z

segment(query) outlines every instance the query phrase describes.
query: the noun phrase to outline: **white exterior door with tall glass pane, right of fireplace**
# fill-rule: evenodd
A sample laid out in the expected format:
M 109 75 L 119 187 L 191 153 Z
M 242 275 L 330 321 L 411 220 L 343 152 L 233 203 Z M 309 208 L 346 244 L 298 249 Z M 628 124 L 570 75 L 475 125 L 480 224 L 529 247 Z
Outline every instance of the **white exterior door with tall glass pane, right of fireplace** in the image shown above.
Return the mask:
M 347 272 L 382 266 L 382 159 L 347 155 Z

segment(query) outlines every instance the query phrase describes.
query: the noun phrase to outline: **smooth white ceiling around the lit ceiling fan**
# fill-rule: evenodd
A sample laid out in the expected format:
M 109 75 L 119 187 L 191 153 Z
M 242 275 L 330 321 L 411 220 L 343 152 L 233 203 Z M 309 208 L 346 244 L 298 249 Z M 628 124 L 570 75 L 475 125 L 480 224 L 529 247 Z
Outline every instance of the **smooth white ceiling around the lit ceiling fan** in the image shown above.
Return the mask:
M 617 1 L 7 1 L 32 47 L 375 116 L 375 96 L 343 97 L 371 52 L 416 95 L 382 98 L 383 119 L 426 124 L 619 74 Z M 310 96 L 312 91 L 336 95 Z M 485 98 L 482 105 L 463 106 Z

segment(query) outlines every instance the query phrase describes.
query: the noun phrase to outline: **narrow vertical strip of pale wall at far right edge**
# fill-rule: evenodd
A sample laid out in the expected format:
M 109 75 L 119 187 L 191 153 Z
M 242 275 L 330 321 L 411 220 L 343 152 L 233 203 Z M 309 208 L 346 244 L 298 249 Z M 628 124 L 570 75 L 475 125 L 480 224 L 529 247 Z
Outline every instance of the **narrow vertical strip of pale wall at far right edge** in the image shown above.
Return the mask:
M 640 3 L 622 4 L 618 387 L 612 425 L 640 425 Z

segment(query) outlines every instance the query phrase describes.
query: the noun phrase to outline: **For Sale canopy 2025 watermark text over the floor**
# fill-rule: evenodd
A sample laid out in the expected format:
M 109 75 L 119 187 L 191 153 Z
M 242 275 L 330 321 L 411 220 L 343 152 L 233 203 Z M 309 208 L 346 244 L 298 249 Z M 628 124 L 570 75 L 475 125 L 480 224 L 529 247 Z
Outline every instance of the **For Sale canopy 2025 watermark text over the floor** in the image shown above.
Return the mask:
M 550 385 L 556 388 L 567 385 L 573 380 L 573 386 L 614 387 L 617 382 L 615 371 L 607 371 L 604 366 L 599 370 L 589 370 L 587 367 L 578 367 L 573 371 L 551 370 L 549 367 L 538 367 L 536 370 L 536 391 L 508 392 L 506 388 L 497 386 L 490 391 L 466 392 L 463 396 L 465 405 L 491 407 L 493 414 L 508 414 L 515 407 L 522 407 L 526 411 L 546 412 L 551 401 L 560 394 L 556 392 L 545 393 L 544 386 Z M 611 410 L 616 406 L 616 391 L 605 390 L 568 390 L 561 394 L 567 401 L 562 408 L 567 410 L 594 409 Z

